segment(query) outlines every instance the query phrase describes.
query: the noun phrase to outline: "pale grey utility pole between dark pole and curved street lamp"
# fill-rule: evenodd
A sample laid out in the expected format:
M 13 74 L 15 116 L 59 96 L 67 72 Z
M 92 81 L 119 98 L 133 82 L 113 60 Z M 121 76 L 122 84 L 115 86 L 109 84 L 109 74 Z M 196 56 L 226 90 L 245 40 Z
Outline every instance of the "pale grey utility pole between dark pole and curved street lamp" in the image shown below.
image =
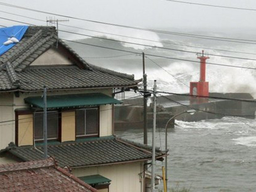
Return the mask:
M 157 109 L 157 81 L 154 80 L 154 107 L 153 107 L 153 130 L 152 130 L 152 171 L 151 171 L 151 192 L 155 190 L 155 124 L 156 124 L 156 109 Z

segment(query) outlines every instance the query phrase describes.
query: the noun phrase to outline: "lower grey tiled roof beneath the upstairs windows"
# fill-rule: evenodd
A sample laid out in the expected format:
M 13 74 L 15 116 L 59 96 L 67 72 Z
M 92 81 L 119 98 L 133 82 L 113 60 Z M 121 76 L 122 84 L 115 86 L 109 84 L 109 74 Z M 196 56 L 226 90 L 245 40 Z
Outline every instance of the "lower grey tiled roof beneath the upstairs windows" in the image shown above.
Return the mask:
M 1 153 L 10 152 L 24 161 L 40 160 L 44 158 L 43 146 L 20 146 L 10 143 Z M 54 157 L 60 166 L 85 167 L 109 165 L 131 161 L 144 161 L 152 157 L 152 148 L 131 143 L 112 137 L 84 139 L 76 142 L 48 144 L 48 154 Z M 156 151 L 156 158 L 165 155 L 163 151 Z

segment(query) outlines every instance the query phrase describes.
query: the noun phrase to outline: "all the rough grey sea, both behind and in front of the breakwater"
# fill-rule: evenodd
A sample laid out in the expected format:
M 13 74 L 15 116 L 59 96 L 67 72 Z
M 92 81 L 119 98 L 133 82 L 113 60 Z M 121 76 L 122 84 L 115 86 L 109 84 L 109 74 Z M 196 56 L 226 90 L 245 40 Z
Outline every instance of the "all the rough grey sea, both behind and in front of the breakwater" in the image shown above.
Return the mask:
M 226 34 L 224 32 L 206 33 L 200 30 L 189 32 L 230 37 L 230 32 Z M 160 43 L 150 42 L 153 46 L 194 52 L 201 52 L 204 49 L 209 54 L 256 59 L 254 44 L 238 44 L 168 36 L 154 34 L 152 32 L 144 32 L 142 34 L 141 32 L 132 33 L 126 31 L 126 33 L 130 36 L 134 35 L 134 37 L 161 41 Z M 107 37 L 131 41 L 131 39 L 123 37 Z M 234 32 L 231 38 L 255 39 L 256 37 L 254 34 Z M 79 41 L 99 46 L 114 47 L 116 49 L 199 61 L 194 53 L 147 48 L 94 38 Z M 142 40 L 135 42 L 149 43 Z M 91 64 L 119 72 L 134 74 L 136 79 L 142 78 L 141 54 L 129 54 L 75 43 L 70 43 L 70 46 Z M 208 47 L 208 49 L 205 49 L 205 47 Z M 224 52 L 220 50 L 244 53 Z M 152 56 L 147 56 L 145 62 L 149 89 L 152 88 L 153 81 L 156 79 L 157 90 L 159 91 L 188 93 L 189 82 L 199 80 L 199 63 Z M 207 62 L 256 68 L 256 61 L 249 59 L 210 56 Z M 255 70 L 215 66 L 211 64 L 207 64 L 206 69 L 206 80 L 209 81 L 210 92 L 243 92 L 250 93 L 253 97 L 256 97 L 256 86 L 254 83 L 256 82 Z M 255 119 L 223 117 L 222 119 L 201 120 L 199 122 L 176 121 L 176 123 L 177 125 L 174 129 L 168 130 L 168 189 L 171 187 L 174 189 L 185 187 L 192 192 L 256 191 Z M 125 131 L 118 131 L 116 134 L 126 139 L 143 143 L 142 130 L 136 130 L 131 127 Z M 149 130 L 149 144 L 152 141 L 151 137 L 151 130 Z M 165 149 L 164 139 L 165 130 L 158 127 L 156 143 L 161 149 Z M 157 162 L 157 174 L 162 175 L 162 166 L 164 166 L 164 162 Z M 160 184 L 158 189 L 162 190 L 163 185 Z

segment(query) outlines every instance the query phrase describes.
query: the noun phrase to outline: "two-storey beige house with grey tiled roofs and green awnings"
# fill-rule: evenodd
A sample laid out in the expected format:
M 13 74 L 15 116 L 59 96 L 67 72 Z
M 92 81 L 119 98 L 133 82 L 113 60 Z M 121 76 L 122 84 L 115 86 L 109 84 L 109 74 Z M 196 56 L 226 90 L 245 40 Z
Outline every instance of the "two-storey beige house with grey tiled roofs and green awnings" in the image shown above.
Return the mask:
M 121 103 L 114 89 L 136 89 L 139 81 L 88 64 L 55 27 L 28 26 L 17 41 L 0 55 L 0 164 L 44 158 L 45 86 L 48 155 L 101 191 L 143 191 L 152 148 L 114 136 L 113 126 Z M 157 160 L 165 155 L 156 151 Z

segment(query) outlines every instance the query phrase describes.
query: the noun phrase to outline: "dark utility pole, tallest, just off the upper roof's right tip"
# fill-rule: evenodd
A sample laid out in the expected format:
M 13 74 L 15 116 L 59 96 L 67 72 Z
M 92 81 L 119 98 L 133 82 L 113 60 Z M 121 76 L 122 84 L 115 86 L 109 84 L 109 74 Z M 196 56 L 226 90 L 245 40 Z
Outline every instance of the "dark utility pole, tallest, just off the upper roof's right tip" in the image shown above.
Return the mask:
M 143 61 L 143 88 L 144 88 L 144 94 L 143 94 L 143 143 L 145 145 L 148 145 L 148 129 L 147 129 L 147 75 L 145 73 L 145 54 L 142 52 L 142 61 Z

